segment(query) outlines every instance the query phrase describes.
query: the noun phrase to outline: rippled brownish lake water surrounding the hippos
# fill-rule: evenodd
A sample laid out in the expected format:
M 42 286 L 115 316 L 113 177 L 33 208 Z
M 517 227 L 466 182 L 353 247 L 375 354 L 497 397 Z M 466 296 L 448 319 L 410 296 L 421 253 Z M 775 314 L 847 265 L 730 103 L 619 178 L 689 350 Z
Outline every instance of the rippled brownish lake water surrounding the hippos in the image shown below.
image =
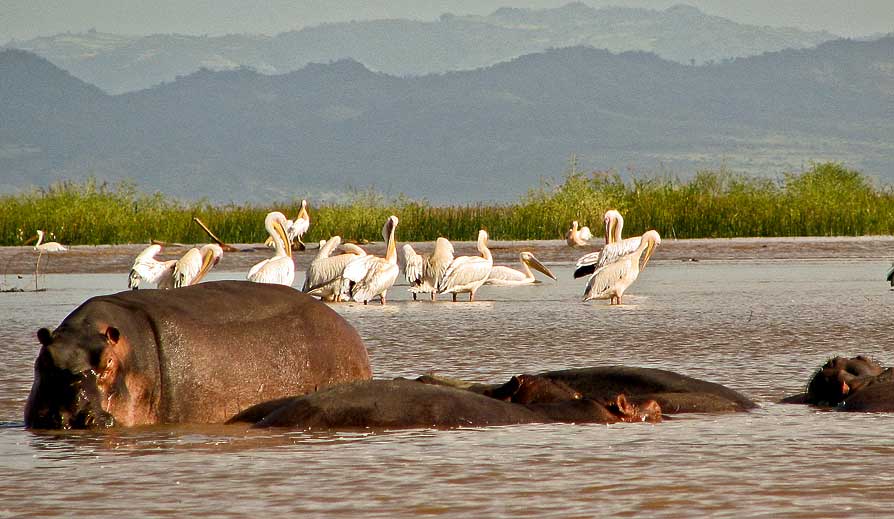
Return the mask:
M 376 377 L 495 382 L 624 364 L 719 382 L 761 406 L 659 424 L 366 433 L 24 430 L 37 328 L 126 284 L 126 273 L 49 274 L 44 292 L 0 294 L 0 517 L 884 517 L 894 415 L 774 402 L 832 355 L 892 364 L 888 265 L 684 262 L 659 249 L 620 307 L 581 303 L 568 262 L 550 265 L 558 282 L 485 287 L 474 303 L 413 302 L 396 287 L 384 307 L 335 305 Z

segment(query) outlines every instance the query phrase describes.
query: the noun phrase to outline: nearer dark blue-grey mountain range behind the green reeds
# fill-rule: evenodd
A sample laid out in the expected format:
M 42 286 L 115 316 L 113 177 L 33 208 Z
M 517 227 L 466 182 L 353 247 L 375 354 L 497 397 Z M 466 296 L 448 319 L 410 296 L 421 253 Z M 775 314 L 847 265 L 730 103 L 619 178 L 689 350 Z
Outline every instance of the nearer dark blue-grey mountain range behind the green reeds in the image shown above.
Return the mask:
M 32 108 L 22 108 L 32 107 Z M 845 161 L 894 180 L 894 37 L 710 66 L 576 47 L 424 77 L 354 61 L 280 76 L 208 70 L 108 96 L 0 53 L 0 184 L 133 178 L 214 200 L 353 186 L 432 201 L 511 200 L 584 168 L 726 165 L 778 175 Z

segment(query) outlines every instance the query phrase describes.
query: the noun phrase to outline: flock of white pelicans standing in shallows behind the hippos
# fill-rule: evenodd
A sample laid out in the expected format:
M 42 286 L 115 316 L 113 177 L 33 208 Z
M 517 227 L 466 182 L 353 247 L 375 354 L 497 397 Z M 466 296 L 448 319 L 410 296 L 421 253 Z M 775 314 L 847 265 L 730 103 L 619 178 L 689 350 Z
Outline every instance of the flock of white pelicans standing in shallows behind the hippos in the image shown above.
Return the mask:
M 655 247 L 661 243 L 661 237 L 650 230 L 642 236 L 622 238 L 624 219 L 616 210 L 607 211 L 603 222 L 605 245 L 577 260 L 574 277 L 589 275 L 584 301 L 608 299 L 609 304 L 621 304 L 621 297 L 646 267 Z M 342 243 L 340 236 L 321 240 L 316 257 L 307 267 L 301 290 L 329 302 L 368 304 L 378 299 L 384 305 L 388 291 L 400 274 L 395 237 L 398 223 L 397 216 L 392 215 L 382 227 L 385 240 L 382 257 L 368 254 L 352 243 Z M 304 200 L 295 220 L 287 219 L 279 211 L 268 213 L 264 219 L 269 236 L 265 243 L 273 248 L 273 256 L 252 266 L 246 278 L 258 283 L 292 286 L 295 281 L 292 251 L 297 247 L 304 248 L 301 237 L 309 226 L 310 216 Z M 570 246 L 578 247 L 588 244 L 593 235 L 588 227 L 579 227 L 574 221 L 565 237 Z M 431 254 L 417 254 L 411 245 L 405 244 L 403 271 L 413 299 L 416 300 L 419 294 L 429 294 L 434 301 L 438 294 L 450 294 L 456 301 L 458 294 L 467 293 L 469 301 L 474 301 L 475 293 L 484 285 L 539 283 L 534 271 L 556 279 L 555 274 L 530 252 L 519 254 L 519 269 L 494 265 L 484 229 L 478 231 L 477 249 L 477 255 L 455 256 L 453 244 L 443 237 L 435 241 Z M 130 288 L 138 288 L 141 282 L 153 283 L 160 289 L 198 283 L 223 254 L 220 246 L 210 244 L 190 249 L 179 260 L 159 261 L 155 256 L 160 251 L 160 245 L 150 245 L 136 257 L 130 271 Z

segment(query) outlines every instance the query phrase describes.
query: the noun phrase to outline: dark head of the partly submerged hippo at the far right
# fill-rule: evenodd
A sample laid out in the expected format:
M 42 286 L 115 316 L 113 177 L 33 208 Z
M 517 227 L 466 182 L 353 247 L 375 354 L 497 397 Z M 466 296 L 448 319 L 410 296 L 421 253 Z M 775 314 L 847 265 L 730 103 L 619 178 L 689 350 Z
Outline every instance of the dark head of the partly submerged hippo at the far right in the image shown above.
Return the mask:
M 835 357 L 826 362 L 807 384 L 807 403 L 836 406 L 884 371 L 862 355 Z

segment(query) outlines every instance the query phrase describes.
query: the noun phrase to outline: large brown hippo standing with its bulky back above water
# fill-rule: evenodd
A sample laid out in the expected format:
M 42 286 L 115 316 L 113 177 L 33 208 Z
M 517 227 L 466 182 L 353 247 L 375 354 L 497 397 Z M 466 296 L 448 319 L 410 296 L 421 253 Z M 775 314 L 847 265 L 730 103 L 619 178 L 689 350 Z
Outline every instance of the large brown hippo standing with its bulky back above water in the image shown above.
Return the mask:
M 369 379 L 357 331 L 290 287 L 218 281 L 91 298 L 41 343 L 29 428 L 220 423 L 259 402 Z

